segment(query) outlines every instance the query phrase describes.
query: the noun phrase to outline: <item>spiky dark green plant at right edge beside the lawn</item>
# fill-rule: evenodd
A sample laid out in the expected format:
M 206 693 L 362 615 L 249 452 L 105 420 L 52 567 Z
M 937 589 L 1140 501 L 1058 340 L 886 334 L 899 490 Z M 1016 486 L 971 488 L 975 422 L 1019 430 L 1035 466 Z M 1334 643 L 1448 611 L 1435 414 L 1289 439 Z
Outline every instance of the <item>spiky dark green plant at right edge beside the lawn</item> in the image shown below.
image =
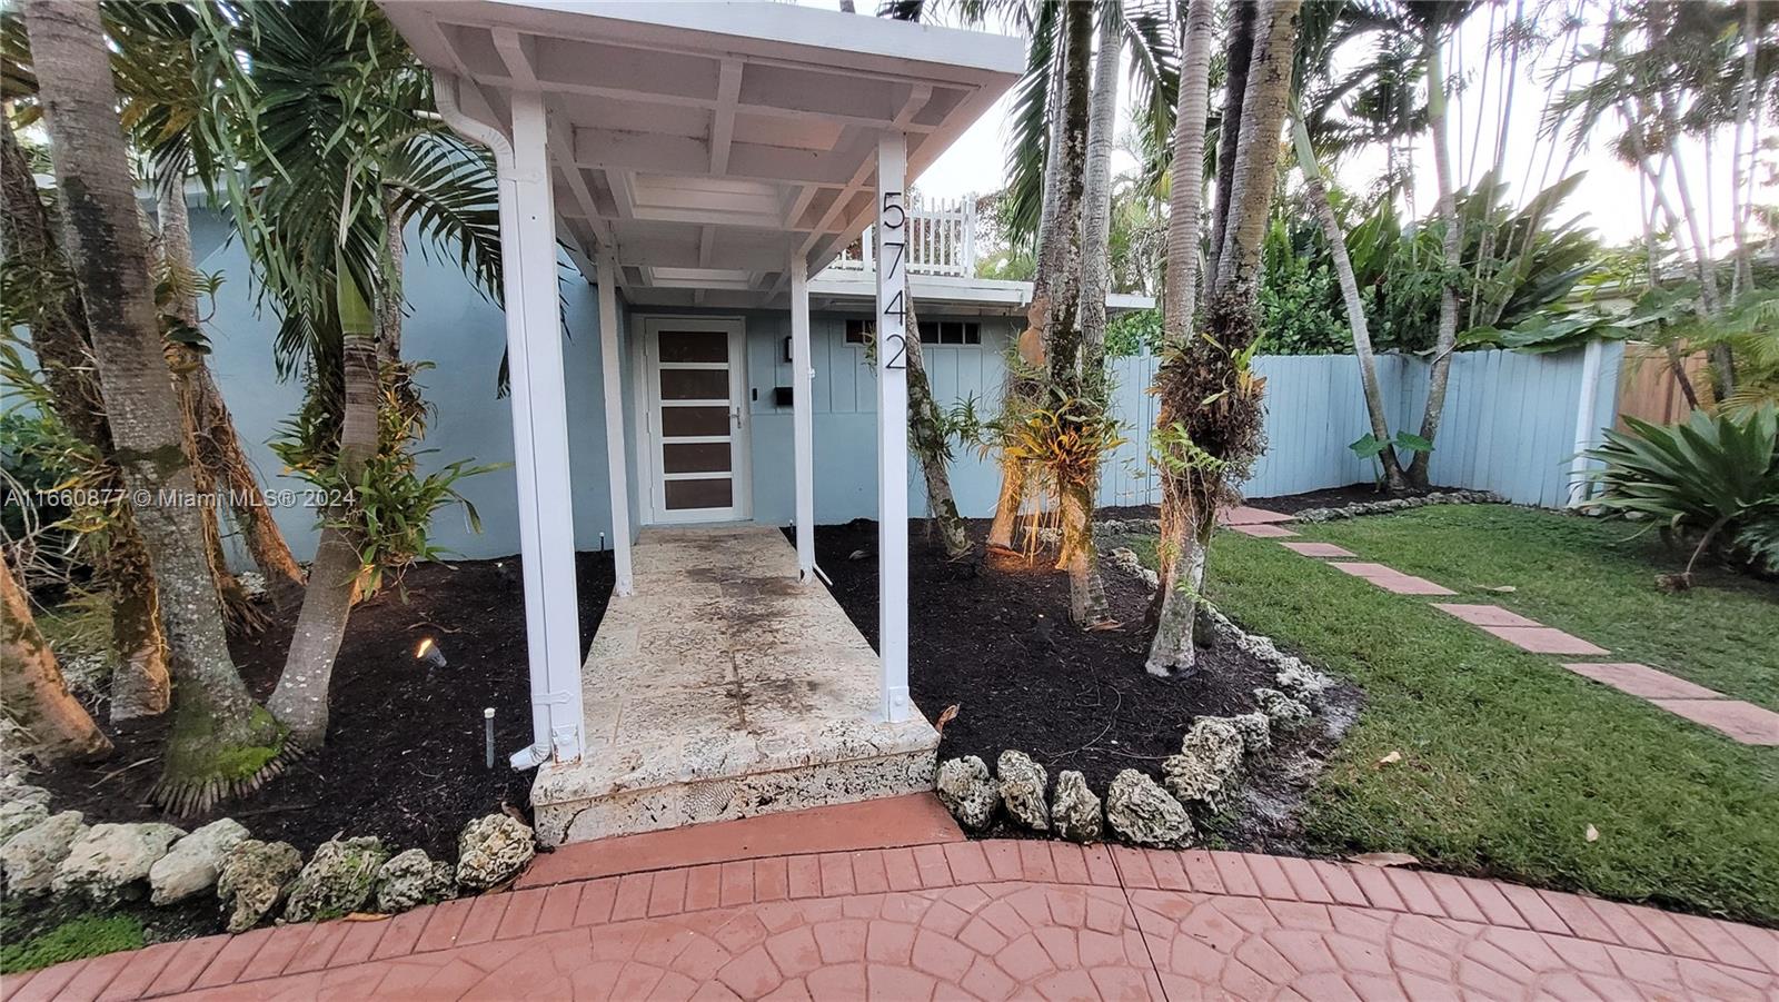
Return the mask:
M 1603 463 L 1589 473 L 1603 491 L 1583 504 L 1651 520 L 1676 537 L 1697 536 L 1686 568 L 1663 584 L 1688 587 L 1706 550 L 1779 573 L 1779 408 L 1743 416 L 1694 411 L 1674 425 L 1624 422 L 1631 434 L 1608 431 L 1606 443 L 1587 452 Z

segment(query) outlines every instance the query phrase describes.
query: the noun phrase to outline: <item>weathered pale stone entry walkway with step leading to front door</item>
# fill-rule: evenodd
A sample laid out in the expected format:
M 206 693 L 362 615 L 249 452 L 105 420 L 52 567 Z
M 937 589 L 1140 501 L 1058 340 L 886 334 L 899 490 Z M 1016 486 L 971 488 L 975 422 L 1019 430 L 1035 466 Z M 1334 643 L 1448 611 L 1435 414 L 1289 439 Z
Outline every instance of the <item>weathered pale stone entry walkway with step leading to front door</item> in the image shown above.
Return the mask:
M 587 751 L 532 787 L 548 845 L 932 790 L 939 731 L 772 527 L 644 529 L 582 669 Z

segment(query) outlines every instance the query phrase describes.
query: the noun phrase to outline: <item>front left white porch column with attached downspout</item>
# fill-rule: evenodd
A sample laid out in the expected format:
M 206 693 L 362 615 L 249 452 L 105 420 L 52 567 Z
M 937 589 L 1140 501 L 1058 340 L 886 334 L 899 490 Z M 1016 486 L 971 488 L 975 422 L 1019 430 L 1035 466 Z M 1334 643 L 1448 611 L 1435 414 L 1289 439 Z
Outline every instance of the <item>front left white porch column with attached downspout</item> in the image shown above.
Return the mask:
M 500 164 L 500 228 L 507 262 L 512 466 L 519 495 L 525 642 L 535 735 L 530 749 L 512 756 L 516 767 L 580 758 L 585 726 L 555 205 L 544 142 L 543 96 L 516 91 L 512 158 Z

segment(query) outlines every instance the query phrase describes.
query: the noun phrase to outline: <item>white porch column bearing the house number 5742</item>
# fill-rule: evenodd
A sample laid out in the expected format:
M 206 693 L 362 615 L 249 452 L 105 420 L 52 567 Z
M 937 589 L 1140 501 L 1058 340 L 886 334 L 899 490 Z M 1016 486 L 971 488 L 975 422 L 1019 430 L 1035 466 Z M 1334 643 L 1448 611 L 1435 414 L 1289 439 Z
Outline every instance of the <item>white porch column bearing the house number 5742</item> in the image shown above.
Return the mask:
M 877 650 L 884 719 L 907 698 L 907 137 L 877 139 Z

